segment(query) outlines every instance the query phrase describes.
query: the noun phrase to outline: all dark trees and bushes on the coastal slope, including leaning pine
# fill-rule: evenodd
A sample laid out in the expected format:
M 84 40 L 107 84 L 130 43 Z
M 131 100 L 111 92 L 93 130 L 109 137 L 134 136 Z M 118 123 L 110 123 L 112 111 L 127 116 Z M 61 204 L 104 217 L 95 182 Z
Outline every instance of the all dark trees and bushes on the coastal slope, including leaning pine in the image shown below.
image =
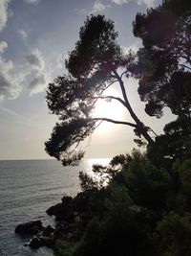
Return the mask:
M 84 192 L 94 191 L 95 212 L 76 243 L 55 245 L 64 256 L 189 256 L 191 255 L 191 5 L 164 1 L 138 13 L 134 34 L 142 39 L 138 56 L 124 55 L 114 24 L 104 16 L 88 17 L 80 39 L 66 61 L 68 76 L 49 86 L 47 101 L 60 124 L 53 128 L 46 150 L 63 164 L 83 153 L 70 151 L 91 134 L 99 121 L 134 128 L 148 142 L 147 151 L 117 155 L 106 167 L 94 166 L 96 178 L 80 173 Z M 121 71 L 120 74 L 119 71 Z M 170 107 L 177 120 L 164 134 L 151 138 L 129 105 L 123 76 L 139 80 L 138 94 L 149 115 L 160 117 Z M 104 96 L 118 82 L 123 98 Z M 96 119 L 97 99 L 120 102 L 133 123 Z M 141 143 L 141 141 L 139 141 Z

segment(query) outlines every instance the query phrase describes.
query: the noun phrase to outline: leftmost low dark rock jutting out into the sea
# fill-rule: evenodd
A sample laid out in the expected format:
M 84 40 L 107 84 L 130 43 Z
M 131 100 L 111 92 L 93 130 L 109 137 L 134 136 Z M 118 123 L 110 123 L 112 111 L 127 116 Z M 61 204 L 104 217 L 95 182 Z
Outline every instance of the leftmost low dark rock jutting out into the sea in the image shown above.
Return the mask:
M 30 221 L 17 225 L 15 228 L 15 233 L 21 235 L 36 235 L 41 230 L 43 230 L 41 221 Z

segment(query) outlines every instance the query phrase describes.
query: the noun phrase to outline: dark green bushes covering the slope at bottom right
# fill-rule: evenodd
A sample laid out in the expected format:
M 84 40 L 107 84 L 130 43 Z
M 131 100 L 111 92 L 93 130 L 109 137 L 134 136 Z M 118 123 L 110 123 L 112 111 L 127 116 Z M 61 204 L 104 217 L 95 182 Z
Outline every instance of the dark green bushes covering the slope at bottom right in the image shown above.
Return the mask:
M 74 250 L 68 244 L 61 250 L 63 255 L 189 255 L 190 159 L 174 161 L 170 170 L 156 167 L 139 151 L 116 156 L 111 163 L 121 159 L 107 186 L 100 189 L 88 180 L 95 213 Z

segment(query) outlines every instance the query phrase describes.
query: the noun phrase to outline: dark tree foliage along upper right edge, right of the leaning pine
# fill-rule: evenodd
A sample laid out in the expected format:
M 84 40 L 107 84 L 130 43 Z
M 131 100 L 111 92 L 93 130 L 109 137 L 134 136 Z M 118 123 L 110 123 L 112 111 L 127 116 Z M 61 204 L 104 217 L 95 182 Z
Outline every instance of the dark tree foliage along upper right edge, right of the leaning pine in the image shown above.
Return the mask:
M 143 44 L 138 51 L 138 94 L 146 102 L 145 111 L 160 117 L 168 106 L 178 116 L 148 147 L 150 160 L 169 170 L 177 158 L 191 157 L 190 13 L 188 1 L 169 0 L 138 13 L 133 23 L 134 35 Z

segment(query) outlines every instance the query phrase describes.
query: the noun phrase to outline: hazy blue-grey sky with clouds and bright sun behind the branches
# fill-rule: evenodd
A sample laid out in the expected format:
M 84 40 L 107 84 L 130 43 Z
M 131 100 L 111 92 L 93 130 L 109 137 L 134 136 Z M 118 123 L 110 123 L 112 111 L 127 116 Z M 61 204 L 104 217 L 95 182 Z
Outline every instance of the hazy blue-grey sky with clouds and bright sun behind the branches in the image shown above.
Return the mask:
M 47 86 L 66 72 L 64 59 L 74 49 L 87 15 L 101 13 L 113 19 L 120 46 L 124 51 L 137 51 L 141 42 L 132 33 L 136 13 L 160 3 L 0 0 L 0 159 L 49 158 L 44 142 L 50 137 L 57 117 L 49 113 L 46 104 Z M 138 117 L 161 133 L 164 124 L 173 118 L 169 110 L 161 119 L 146 116 L 144 104 L 138 98 L 138 81 L 126 81 L 126 89 Z M 116 87 L 112 93 L 118 93 Z M 117 119 L 130 119 L 116 105 L 107 109 L 118 109 Z M 115 111 L 105 114 L 111 112 Z M 133 138 L 132 128 L 103 124 L 80 147 L 86 151 L 86 157 L 112 157 L 136 147 Z

